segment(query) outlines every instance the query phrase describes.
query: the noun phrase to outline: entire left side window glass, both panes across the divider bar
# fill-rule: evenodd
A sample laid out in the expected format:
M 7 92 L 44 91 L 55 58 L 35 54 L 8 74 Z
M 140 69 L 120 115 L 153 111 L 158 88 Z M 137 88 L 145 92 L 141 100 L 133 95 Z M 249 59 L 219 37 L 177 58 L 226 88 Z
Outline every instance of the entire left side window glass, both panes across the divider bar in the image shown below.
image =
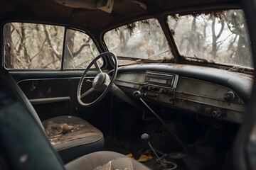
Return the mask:
M 90 36 L 62 26 L 6 23 L 3 35 L 6 69 L 85 69 L 99 55 Z

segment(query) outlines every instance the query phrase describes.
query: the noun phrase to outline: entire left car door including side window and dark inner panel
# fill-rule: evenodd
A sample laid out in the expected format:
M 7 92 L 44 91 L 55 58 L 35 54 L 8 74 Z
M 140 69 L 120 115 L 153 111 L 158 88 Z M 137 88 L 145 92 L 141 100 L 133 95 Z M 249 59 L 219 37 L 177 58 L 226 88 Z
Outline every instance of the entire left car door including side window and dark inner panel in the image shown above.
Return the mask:
M 107 120 L 110 114 L 110 96 L 90 108 L 80 106 L 77 100 L 80 77 L 87 65 L 100 54 L 89 35 L 63 26 L 6 23 L 4 52 L 6 69 L 42 121 L 58 115 L 77 115 L 97 128 L 107 129 L 104 127 L 106 123 L 101 121 Z M 98 64 L 105 69 L 104 59 Z M 96 74 L 92 68 L 87 78 L 93 79 Z M 90 87 L 89 83 L 83 88 Z M 97 94 L 89 97 L 95 98 Z

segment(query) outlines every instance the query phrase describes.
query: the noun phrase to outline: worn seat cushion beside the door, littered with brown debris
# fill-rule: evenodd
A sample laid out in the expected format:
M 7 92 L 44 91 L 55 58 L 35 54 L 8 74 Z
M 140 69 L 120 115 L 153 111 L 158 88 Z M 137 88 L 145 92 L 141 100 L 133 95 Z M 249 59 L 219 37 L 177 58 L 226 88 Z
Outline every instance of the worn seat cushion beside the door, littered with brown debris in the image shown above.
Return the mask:
M 76 116 L 58 116 L 43 121 L 48 140 L 67 163 L 104 148 L 102 132 Z

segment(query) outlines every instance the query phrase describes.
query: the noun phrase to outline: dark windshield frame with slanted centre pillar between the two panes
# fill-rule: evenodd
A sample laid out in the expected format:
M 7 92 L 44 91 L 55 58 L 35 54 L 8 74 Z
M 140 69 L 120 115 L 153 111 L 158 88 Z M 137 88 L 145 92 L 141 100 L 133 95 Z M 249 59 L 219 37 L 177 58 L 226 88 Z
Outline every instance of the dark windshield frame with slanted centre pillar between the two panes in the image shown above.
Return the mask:
M 124 23 L 118 23 L 116 25 L 112 25 L 112 26 L 106 28 L 100 35 L 101 40 L 102 40 L 101 41 L 102 46 L 105 48 L 105 50 L 108 51 L 107 45 L 104 40 L 105 33 L 107 33 L 108 31 L 119 28 L 121 26 L 125 26 L 129 23 L 134 23 L 137 21 L 154 18 L 159 21 L 161 30 L 163 30 L 166 40 L 167 40 L 169 47 L 171 49 L 171 52 L 173 54 L 174 60 L 172 61 L 172 63 L 192 64 L 192 65 L 200 65 L 200 66 L 205 66 L 205 67 L 215 67 L 215 68 L 219 68 L 219 69 L 230 70 L 233 72 L 242 72 L 245 74 L 252 74 L 252 72 L 254 71 L 254 68 L 241 67 L 239 65 L 234 65 L 234 64 L 230 65 L 230 64 L 218 63 L 218 62 L 206 62 L 206 61 L 201 60 L 200 58 L 199 58 L 199 60 L 197 60 L 196 58 L 193 58 L 193 57 L 181 55 L 176 46 L 174 36 L 171 34 L 171 30 L 169 29 L 169 24 L 167 23 L 167 17 L 169 15 L 176 15 L 176 14 L 190 15 L 191 13 L 209 13 L 209 12 L 213 12 L 213 11 L 225 11 L 225 10 L 232 10 L 232 9 L 242 9 L 242 8 L 241 8 L 240 4 L 232 4 L 232 3 L 215 4 L 214 6 L 206 5 L 206 6 L 196 6 L 193 8 L 186 7 L 186 8 L 182 8 L 182 10 L 178 8 L 178 9 L 171 10 L 171 11 L 164 11 L 161 13 L 156 13 L 156 15 L 142 16 L 142 17 L 136 18 L 136 19 L 132 18 L 130 21 L 125 21 Z M 137 63 L 134 63 L 134 64 L 137 64 Z

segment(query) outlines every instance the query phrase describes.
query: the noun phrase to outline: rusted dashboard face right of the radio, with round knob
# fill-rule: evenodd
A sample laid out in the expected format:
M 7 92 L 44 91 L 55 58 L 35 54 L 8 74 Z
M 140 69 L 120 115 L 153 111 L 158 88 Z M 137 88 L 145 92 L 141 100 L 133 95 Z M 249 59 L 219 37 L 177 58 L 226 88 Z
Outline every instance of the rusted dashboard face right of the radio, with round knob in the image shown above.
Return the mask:
M 230 92 L 234 93 L 234 98 L 226 101 L 225 95 Z M 174 103 L 178 108 L 235 123 L 242 123 L 245 114 L 242 99 L 232 90 L 186 77 L 179 79 Z

